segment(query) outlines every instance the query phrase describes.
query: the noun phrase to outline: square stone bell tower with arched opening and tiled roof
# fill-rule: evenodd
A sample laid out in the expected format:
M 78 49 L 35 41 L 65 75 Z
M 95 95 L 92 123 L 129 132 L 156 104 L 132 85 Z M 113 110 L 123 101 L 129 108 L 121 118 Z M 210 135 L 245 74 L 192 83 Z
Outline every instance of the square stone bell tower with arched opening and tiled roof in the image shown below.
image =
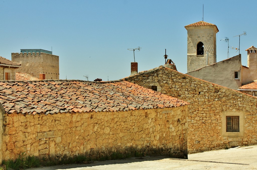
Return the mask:
M 217 26 L 199 21 L 187 29 L 187 72 L 216 63 Z

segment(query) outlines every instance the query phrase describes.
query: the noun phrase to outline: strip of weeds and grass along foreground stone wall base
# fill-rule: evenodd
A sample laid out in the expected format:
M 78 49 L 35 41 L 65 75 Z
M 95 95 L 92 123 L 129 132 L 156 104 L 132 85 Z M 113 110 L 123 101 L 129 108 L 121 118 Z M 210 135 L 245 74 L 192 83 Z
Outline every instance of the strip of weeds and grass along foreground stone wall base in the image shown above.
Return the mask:
M 172 154 L 172 153 L 175 153 Z M 114 149 L 91 149 L 89 152 L 85 154 L 78 154 L 74 156 L 68 155 L 56 155 L 38 157 L 38 156 L 26 156 L 25 153 L 22 153 L 18 159 L 15 161 L 8 160 L 3 161 L 2 164 L 6 166 L 6 168 L 13 169 L 26 169 L 32 167 L 40 167 L 40 166 L 54 166 L 54 165 L 63 165 L 63 164 L 89 164 L 93 161 L 105 161 L 105 160 L 115 160 L 115 159 L 125 159 L 130 157 L 142 157 L 142 156 L 171 156 L 178 157 L 181 155 L 182 151 L 179 150 L 173 151 L 173 149 L 162 149 L 162 148 L 143 148 L 136 149 L 134 147 L 126 147 L 122 150 L 114 150 Z M 0 169 L 1 170 L 1 169 Z

